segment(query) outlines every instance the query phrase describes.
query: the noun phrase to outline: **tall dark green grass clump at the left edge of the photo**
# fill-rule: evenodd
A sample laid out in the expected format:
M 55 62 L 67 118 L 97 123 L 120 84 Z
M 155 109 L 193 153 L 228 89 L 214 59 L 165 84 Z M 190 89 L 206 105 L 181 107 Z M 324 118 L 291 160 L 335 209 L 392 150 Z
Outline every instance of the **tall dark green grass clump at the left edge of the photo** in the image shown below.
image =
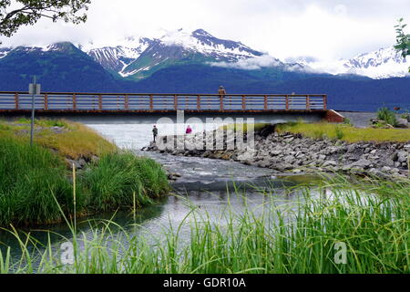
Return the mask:
M 0 225 L 58 220 L 61 214 L 51 193 L 67 209 L 72 187 L 66 172 L 65 163 L 51 151 L 0 137 Z

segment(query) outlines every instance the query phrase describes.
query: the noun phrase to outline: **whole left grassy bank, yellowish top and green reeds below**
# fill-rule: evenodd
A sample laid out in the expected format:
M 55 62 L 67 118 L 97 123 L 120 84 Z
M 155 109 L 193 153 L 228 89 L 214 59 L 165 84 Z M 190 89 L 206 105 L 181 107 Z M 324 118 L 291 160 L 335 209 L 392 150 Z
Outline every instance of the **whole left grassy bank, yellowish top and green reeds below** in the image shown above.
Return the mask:
M 0 225 L 52 224 L 74 212 L 72 172 L 65 159 L 99 159 L 77 173 L 77 214 L 144 205 L 168 192 L 161 166 L 119 151 L 93 130 L 64 120 L 38 120 L 28 142 L 25 120 L 0 124 Z M 53 129 L 57 127 L 58 129 Z

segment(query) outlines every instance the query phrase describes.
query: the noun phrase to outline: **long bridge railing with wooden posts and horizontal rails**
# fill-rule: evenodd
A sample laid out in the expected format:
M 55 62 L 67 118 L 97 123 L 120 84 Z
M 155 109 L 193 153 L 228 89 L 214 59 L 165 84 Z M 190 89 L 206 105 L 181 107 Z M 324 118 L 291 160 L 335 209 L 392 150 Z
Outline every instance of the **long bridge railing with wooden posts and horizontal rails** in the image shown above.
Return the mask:
M 26 92 L 0 92 L 0 111 L 31 110 L 31 99 Z M 35 107 L 48 111 L 327 110 L 327 96 L 46 92 L 36 96 Z

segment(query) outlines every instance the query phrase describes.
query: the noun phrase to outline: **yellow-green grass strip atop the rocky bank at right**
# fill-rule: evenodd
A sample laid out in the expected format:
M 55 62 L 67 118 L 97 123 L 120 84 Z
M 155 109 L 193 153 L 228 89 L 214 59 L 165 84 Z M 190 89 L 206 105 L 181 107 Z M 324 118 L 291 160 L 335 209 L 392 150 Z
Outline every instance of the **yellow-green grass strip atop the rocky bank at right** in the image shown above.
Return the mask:
M 410 141 L 410 129 L 374 129 L 355 128 L 327 122 L 305 124 L 300 122 L 287 123 L 277 126 L 279 132 L 299 133 L 313 139 L 336 139 L 347 142 L 360 141 Z

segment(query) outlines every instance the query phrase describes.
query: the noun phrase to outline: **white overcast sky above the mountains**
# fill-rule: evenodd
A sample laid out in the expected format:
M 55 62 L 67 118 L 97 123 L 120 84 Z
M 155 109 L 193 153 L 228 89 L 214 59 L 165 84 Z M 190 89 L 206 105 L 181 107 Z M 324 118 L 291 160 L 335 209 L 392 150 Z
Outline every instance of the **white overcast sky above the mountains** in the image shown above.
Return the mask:
M 42 20 L 4 45 L 69 40 L 110 44 L 161 29 L 203 28 L 273 57 L 354 57 L 395 43 L 400 17 L 410 25 L 410 0 L 92 0 L 84 25 Z M 162 30 L 163 33 L 163 30 Z

